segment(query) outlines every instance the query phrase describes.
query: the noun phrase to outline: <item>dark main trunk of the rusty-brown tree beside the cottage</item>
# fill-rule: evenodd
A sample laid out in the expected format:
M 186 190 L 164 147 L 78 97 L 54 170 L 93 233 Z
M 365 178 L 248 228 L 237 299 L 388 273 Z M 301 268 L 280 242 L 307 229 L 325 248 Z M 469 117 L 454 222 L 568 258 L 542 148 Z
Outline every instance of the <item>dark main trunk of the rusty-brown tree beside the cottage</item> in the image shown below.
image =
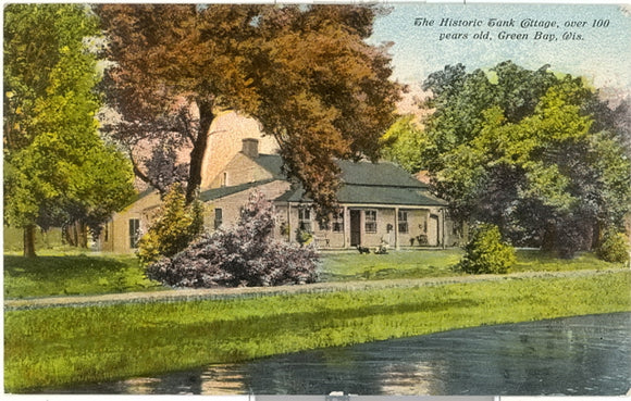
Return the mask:
M 208 147 L 208 131 L 214 120 L 212 101 L 198 100 L 197 106 L 199 108 L 199 133 L 190 151 L 190 167 L 188 171 L 188 184 L 186 186 L 187 204 L 190 204 L 197 198 L 199 187 L 201 186 L 201 166 L 206 148 Z

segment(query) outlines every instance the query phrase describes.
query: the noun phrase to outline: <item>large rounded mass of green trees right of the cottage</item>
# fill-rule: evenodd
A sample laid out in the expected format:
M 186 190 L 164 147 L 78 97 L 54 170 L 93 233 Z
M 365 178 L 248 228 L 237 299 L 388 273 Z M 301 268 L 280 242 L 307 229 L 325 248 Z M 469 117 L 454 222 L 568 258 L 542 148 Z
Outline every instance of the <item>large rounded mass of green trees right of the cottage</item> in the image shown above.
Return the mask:
M 616 112 L 581 78 L 504 62 L 430 75 L 436 108 L 422 164 L 460 220 L 493 223 L 514 243 L 571 256 L 621 224 L 631 164 Z M 618 114 L 620 115 L 620 114 Z

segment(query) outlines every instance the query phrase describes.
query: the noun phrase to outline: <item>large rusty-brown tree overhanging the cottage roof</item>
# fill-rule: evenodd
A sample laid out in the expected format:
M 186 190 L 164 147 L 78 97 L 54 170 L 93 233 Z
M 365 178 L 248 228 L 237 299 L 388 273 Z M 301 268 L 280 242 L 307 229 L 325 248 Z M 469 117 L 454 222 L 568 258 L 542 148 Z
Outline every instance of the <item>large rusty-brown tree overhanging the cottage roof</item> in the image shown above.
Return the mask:
M 318 204 L 335 202 L 334 159 L 376 159 L 399 86 L 385 47 L 364 42 L 374 7 L 104 4 L 112 133 L 129 147 L 186 149 L 186 199 L 201 183 L 209 127 L 221 110 L 257 118 L 289 176 Z M 134 154 L 136 155 L 136 154 Z M 162 189 L 136 161 L 137 176 Z

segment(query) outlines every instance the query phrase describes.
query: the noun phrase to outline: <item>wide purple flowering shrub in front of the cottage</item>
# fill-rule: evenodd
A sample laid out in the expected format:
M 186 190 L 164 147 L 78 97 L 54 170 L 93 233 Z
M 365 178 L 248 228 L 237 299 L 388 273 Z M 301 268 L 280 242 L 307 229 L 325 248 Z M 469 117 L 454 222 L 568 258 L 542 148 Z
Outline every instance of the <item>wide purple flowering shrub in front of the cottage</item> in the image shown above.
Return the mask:
M 275 240 L 274 216 L 272 202 L 256 191 L 236 226 L 206 234 L 173 258 L 150 264 L 147 276 L 168 286 L 194 288 L 316 281 L 316 249 Z

